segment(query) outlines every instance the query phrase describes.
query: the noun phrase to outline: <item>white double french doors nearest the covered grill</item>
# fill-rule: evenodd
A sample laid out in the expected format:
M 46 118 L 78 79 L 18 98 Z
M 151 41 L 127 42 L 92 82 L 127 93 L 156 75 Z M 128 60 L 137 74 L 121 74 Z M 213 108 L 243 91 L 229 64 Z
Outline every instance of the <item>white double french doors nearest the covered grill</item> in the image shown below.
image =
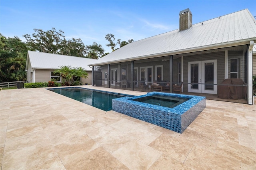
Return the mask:
M 217 94 L 217 60 L 188 62 L 188 92 Z

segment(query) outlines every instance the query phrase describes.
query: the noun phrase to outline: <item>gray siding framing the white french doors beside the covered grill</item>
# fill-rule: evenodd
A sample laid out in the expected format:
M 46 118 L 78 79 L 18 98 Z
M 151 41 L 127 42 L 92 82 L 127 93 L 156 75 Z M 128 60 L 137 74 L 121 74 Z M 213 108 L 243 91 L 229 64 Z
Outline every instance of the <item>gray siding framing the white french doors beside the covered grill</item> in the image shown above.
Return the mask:
M 225 78 L 225 51 L 219 51 L 214 53 L 204 53 L 197 55 L 187 55 L 184 56 L 184 72 L 183 72 L 183 80 L 184 80 L 184 92 L 188 91 L 188 62 L 190 61 L 205 61 L 217 59 L 217 83 L 221 83 Z

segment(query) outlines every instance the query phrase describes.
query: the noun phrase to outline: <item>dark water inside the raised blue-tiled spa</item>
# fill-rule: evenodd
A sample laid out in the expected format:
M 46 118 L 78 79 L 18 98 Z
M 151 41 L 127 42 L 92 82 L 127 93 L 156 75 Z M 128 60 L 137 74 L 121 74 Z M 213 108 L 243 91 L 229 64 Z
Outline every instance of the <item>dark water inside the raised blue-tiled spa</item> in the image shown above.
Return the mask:
M 168 96 L 160 96 L 160 95 L 146 96 L 146 97 L 133 99 L 133 101 L 139 101 L 142 103 L 148 103 L 151 105 L 157 105 L 157 106 L 169 107 L 169 108 L 173 108 L 187 100 L 188 99 L 181 99 L 176 97 L 168 97 Z

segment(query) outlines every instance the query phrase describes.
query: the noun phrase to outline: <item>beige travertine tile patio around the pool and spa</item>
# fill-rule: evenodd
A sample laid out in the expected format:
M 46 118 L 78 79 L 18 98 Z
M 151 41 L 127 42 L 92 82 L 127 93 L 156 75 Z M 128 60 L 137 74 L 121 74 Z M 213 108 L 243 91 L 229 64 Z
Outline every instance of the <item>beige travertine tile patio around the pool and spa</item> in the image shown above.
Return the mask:
M 13 89 L 0 91 L 0 128 L 2 170 L 256 169 L 255 105 L 207 100 L 179 134 L 44 88 Z

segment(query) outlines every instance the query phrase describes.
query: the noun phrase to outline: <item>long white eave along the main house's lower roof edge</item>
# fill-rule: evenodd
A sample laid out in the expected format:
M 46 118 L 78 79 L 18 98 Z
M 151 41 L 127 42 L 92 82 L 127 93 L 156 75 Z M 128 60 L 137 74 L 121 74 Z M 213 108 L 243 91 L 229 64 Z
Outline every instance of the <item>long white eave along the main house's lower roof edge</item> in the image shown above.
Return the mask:
M 237 41 L 233 41 L 233 42 L 211 44 L 211 45 L 193 47 L 193 48 L 188 48 L 188 49 L 181 49 L 181 50 L 176 50 L 176 51 L 168 51 L 168 52 L 164 52 L 164 53 L 143 55 L 140 57 L 132 57 L 132 58 L 128 58 L 128 59 L 120 59 L 120 60 L 107 61 L 107 62 L 102 62 L 102 63 L 95 63 L 95 64 L 91 64 L 89 66 L 98 66 L 98 65 L 105 65 L 105 64 L 111 64 L 111 63 L 120 63 L 120 62 L 134 61 L 134 60 L 140 60 L 140 59 L 148 59 L 148 58 L 154 58 L 154 57 L 163 57 L 163 56 L 167 56 L 167 55 L 178 55 L 178 54 L 182 54 L 182 53 L 192 53 L 192 52 L 197 52 L 197 51 L 206 51 L 206 50 L 210 50 L 210 49 L 218 49 L 218 48 L 246 45 L 246 44 L 250 44 L 251 40 L 253 40 L 254 43 L 256 43 L 256 37 L 254 37 L 254 38 L 250 38 L 250 39 L 246 39 L 246 40 L 237 40 Z

